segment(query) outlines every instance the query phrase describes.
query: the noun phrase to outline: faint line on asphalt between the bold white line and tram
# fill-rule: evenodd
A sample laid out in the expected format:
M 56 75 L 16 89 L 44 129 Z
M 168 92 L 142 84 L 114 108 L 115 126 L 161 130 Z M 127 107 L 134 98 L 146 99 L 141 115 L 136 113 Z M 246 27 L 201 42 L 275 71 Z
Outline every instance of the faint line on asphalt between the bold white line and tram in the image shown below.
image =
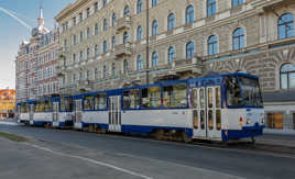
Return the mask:
M 223 177 L 227 177 L 227 178 L 245 179 L 243 177 L 233 176 L 233 175 L 225 174 L 225 172 L 220 172 L 220 171 L 214 171 L 214 170 L 209 170 L 209 169 L 205 169 L 205 168 L 196 168 L 196 167 L 192 167 L 192 166 L 187 166 L 187 165 L 183 165 L 183 164 L 164 161 L 164 160 L 154 159 L 154 158 L 140 157 L 140 156 L 135 156 L 135 155 L 131 155 L 131 154 L 117 153 L 116 155 L 122 156 L 122 157 L 130 157 L 130 158 L 135 158 L 135 159 L 142 159 L 142 160 L 164 163 L 164 164 L 174 165 L 174 166 L 178 166 L 178 167 L 189 168 L 189 169 L 193 169 L 193 170 L 196 170 L 196 171 L 201 171 L 201 172 L 207 172 L 207 174 L 215 174 L 216 176 L 219 176 L 219 177 L 220 176 L 223 176 Z

